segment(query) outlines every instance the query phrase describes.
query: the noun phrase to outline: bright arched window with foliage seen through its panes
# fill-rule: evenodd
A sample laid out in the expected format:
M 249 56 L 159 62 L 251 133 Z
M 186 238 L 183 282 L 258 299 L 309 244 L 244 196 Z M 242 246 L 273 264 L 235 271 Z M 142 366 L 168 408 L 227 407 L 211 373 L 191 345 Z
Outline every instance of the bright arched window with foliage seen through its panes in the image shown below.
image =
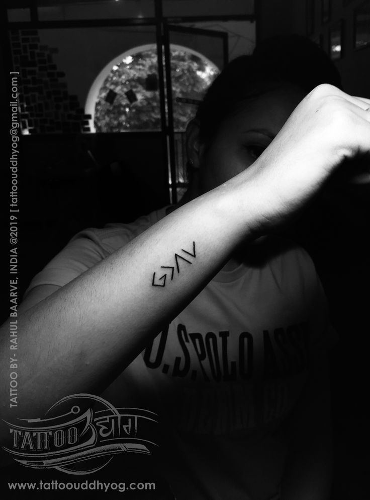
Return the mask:
M 177 97 L 201 99 L 219 69 L 202 54 L 170 45 L 174 129 L 184 130 L 195 108 Z M 160 130 L 156 46 L 133 48 L 110 61 L 87 96 L 85 112 L 97 132 Z

